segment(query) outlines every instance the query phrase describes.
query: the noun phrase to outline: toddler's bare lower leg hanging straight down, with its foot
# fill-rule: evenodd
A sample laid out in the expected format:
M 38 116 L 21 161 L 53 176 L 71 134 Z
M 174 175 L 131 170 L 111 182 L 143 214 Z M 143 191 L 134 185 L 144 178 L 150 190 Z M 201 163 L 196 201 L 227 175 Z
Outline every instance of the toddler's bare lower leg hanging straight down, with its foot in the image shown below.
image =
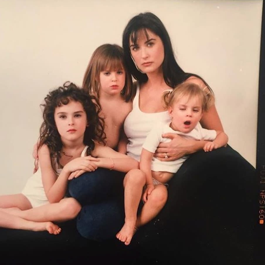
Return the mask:
M 116 237 L 124 242 L 125 245 L 129 245 L 135 233 L 137 209 L 142 197 L 142 189 L 145 185 L 145 174 L 139 169 L 132 169 L 125 175 L 123 185 L 125 223 L 120 232 L 116 234 Z

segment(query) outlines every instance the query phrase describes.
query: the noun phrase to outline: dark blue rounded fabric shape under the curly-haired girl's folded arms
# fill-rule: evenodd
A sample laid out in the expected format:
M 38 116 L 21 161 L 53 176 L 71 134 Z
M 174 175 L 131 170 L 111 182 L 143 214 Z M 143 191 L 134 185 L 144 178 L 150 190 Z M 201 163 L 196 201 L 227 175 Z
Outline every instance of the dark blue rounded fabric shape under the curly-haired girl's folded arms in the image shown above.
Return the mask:
M 124 173 L 98 168 L 69 181 L 68 195 L 82 205 L 77 230 L 88 239 L 115 237 L 124 223 Z

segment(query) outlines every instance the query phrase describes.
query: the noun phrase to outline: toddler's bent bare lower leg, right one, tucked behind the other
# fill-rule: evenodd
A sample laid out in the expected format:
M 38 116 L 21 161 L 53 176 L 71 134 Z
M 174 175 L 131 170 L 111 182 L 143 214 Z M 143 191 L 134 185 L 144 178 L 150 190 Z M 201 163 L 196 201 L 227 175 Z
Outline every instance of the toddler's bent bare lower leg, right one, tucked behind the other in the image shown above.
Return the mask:
M 136 220 L 136 227 L 140 227 L 150 222 L 162 210 L 167 201 L 167 188 L 159 184 L 154 186 L 154 190 L 148 196 L 147 202 L 142 207 L 142 211 Z

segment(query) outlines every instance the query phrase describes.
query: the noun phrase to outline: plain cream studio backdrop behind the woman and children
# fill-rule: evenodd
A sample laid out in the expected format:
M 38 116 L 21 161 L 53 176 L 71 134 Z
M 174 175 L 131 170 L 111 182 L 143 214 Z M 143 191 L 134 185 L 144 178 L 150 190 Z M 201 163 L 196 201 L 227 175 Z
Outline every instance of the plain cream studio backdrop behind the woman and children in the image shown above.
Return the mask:
M 0 0 L 0 195 L 32 174 L 47 92 L 80 86 L 95 48 L 121 45 L 129 19 L 146 11 L 164 23 L 179 65 L 212 87 L 230 146 L 256 166 L 261 0 Z

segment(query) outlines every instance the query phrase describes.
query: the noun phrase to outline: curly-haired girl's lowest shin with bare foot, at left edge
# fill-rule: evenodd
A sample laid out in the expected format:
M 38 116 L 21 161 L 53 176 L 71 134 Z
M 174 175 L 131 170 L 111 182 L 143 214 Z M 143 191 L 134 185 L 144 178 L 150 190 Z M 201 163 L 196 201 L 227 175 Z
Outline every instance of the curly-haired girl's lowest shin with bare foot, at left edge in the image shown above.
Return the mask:
M 0 211 L 0 227 L 11 229 L 24 229 L 32 231 L 45 231 L 50 234 L 59 234 L 61 228 L 52 222 L 33 222 L 20 218 L 15 215 L 11 215 L 6 212 Z

